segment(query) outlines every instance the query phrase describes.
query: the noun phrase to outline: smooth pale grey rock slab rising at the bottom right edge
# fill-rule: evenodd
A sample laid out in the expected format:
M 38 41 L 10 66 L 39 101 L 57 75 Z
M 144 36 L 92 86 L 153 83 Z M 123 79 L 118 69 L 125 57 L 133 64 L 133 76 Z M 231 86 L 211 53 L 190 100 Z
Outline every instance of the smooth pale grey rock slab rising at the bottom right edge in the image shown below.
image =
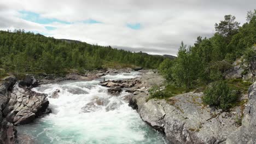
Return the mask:
M 228 136 L 227 144 L 256 143 L 256 82 L 249 88 L 249 101 L 242 119 L 242 126 Z

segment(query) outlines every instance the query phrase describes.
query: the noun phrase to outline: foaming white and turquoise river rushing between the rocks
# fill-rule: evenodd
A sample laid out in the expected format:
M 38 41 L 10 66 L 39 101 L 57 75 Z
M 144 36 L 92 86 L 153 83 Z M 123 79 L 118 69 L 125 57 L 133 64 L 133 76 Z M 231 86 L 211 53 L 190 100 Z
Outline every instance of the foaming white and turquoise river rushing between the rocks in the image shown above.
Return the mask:
M 138 73 L 106 75 L 120 80 Z M 101 79 L 102 80 L 102 79 Z M 107 93 L 100 80 L 65 81 L 33 88 L 49 96 L 59 89 L 59 98 L 48 98 L 53 111 L 32 124 L 18 127 L 18 134 L 31 137 L 34 143 L 165 143 L 164 137 L 142 121 L 123 100 Z M 24 139 L 21 143 L 27 143 Z

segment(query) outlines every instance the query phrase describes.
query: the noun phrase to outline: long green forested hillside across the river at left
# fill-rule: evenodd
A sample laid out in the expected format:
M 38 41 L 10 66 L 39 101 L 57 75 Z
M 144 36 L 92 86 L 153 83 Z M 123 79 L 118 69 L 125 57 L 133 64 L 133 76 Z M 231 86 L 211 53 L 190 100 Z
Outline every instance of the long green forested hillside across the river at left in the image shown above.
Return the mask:
M 47 38 L 21 30 L 0 31 L 0 68 L 5 72 L 62 73 L 68 69 L 101 69 L 108 63 L 157 68 L 164 59 L 162 56 L 133 53 L 110 46 Z

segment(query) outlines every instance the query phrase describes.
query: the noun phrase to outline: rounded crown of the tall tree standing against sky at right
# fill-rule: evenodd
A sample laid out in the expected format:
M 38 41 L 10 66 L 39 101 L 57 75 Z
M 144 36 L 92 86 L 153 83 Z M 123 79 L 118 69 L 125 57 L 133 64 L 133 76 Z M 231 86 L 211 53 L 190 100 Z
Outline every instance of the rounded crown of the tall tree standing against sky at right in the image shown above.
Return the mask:
M 215 23 L 215 30 L 224 37 L 230 37 L 236 34 L 240 27 L 240 23 L 235 21 L 236 17 L 225 15 L 224 18 L 225 20 L 220 21 L 219 24 Z

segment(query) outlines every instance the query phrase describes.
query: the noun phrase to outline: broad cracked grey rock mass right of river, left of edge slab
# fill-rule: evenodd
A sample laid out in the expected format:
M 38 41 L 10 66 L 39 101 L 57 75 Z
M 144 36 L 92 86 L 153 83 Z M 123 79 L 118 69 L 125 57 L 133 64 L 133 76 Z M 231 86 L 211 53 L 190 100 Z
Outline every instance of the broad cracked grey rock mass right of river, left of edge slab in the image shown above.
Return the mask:
M 164 79 L 155 73 L 143 74 L 138 79 L 140 83 L 134 86 L 138 87 L 137 93 L 129 96 L 129 105 L 170 143 L 226 143 L 227 137 L 240 127 L 245 105 L 228 112 L 217 110 L 202 104 L 203 93 L 193 92 L 169 99 L 148 99 L 148 89 L 161 86 Z

